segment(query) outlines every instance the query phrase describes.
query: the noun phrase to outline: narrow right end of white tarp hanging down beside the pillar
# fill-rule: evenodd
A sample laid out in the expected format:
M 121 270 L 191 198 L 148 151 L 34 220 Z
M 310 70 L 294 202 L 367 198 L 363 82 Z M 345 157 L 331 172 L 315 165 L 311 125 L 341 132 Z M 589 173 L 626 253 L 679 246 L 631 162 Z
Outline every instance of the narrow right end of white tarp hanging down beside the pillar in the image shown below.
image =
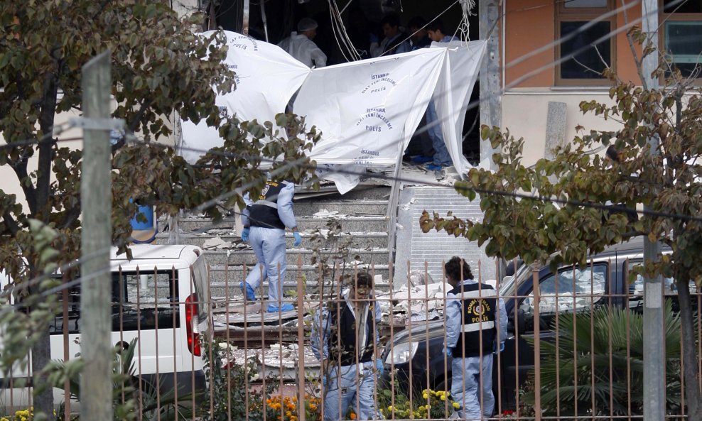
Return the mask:
M 463 120 L 486 45 L 484 40 L 431 43 L 431 48 L 448 48 L 448 60 L 436 82 L 433 101 L 443 140 L 459 174 L 472 167 L 463 156 Z

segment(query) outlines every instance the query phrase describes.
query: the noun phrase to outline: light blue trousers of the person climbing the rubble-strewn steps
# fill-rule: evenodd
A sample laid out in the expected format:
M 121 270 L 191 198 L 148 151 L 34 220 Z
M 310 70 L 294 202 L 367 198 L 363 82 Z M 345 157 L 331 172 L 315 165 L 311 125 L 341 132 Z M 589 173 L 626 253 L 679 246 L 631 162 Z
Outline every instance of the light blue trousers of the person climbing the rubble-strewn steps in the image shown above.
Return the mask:
M 281 280 L 285 280 L 287 268 L 285 230 L 252 226 L 249 231 L 249 242 L 259 265 L 263 266 L 264 277 L 268 277 L 268 303 L 280 307 L 283 290 Z M 264 277 L 261 277 L 261 268 L 257 265 L 247 275 L 246 282 L 251 285 L 251 288 L 257 290 Z

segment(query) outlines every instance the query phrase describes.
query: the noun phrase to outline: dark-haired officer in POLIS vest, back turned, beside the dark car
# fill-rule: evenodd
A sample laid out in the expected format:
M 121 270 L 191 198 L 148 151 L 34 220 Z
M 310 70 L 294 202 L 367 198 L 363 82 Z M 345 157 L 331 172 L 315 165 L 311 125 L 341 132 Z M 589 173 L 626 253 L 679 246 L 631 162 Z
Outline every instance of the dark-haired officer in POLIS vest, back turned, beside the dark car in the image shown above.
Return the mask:
M 453 356 L 451 395 L 460 405 L 461 419 L 487 419 L 495 410 L 492 354 L 504 349 L 507 310 L 495 288 L 473 279 L 470 266 L 462 258 L 454 256 L 445 268 L 448 283 L 453 286 L 446 294 L 445 352 Z

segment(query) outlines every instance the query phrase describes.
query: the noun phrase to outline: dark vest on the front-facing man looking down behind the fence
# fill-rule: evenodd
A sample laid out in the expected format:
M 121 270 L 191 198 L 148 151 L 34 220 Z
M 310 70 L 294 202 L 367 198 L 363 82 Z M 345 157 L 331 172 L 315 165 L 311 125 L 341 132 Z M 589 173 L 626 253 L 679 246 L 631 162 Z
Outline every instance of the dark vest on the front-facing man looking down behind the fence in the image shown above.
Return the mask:
M 366 343 L 356 344 L 356 318 L 353 312 L 341 298 L 336 305 L 330 307 L 330 338 L 329 356 L 333 365 L 350 366 L 356 363 L 365 363 L 373 359 L 373 342 L 375 340 L 375 330 L 373 329 L 373 318 L 375 317 L 374 306 L 371 303 L 368 309 L 368 319 L 366 321 Z M 338 319 L 338 323 L 336 322 Z M 358 352 L 363 349 L 362 354 Z

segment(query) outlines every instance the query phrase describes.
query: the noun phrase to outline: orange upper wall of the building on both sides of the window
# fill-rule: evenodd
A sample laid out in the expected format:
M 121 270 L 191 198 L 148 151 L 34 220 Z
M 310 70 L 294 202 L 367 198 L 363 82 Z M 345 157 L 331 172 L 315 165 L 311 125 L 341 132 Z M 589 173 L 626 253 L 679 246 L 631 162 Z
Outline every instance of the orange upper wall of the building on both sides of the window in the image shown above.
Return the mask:
M 556 9 L 554 0 L 505 0 L 504 16 L 504 66 L 505 88 L 514 87 L 553 87 L 554 60 L 556 50 L 553 45 L 556 36 Z M 620 7 L 616 1 L 615 7 Z M 635 22 L 640 26 L 640 0 L 627 0 L 632 4 L 625 13 L 617 13 L 617 28 L 624 28 L 625 22 Z M 616 35 L 615 54 L 617 74 L 622 80 L 639 81 L 634 60 L 625 30 Z M 535 53 L 539 50 L 539 53 Z M 640 48 L 637 49 L 640 54 Z M 527 58 L 528 57 L 528 58 Z M 541 70 L 539 70 L 541 69 Z

